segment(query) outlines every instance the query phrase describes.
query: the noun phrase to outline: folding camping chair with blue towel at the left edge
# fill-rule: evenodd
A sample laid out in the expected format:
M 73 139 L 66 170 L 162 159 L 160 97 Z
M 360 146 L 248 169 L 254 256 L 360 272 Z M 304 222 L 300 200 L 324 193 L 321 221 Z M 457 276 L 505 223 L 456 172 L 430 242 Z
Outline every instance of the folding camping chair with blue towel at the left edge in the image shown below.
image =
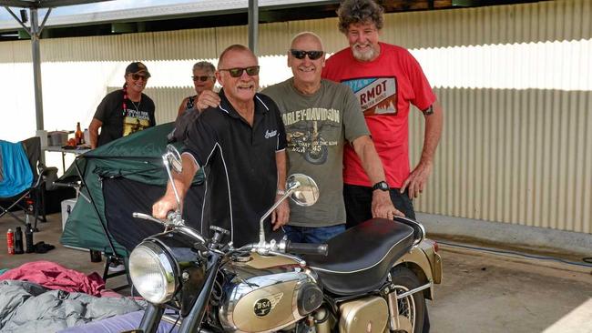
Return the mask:
M 0 144 L 14 145 L 5 141 L 0 141 Z M 3 180 L 6 180 L 7 178 L 15 179 L 15 176 L 22 175 L 10 175 L 11 172 L 28 173 L 28 171 L 30 171 L 33 176 L 32 181 L 31 184 L 20 184 L 19 186 L 25 188 L 20 193 L 8 197 L 0 197 L 0 217 L 8 214 L 15 217 L 16 220 L 24 225 L 26 225 L 26 223 L 32 223 L 34 225 L 33 231 L 38 231 L 37 221 L 47 221 L 46 210 L 44 207 L 44 186 L 46 184 L 46 176 L 52 172 L 55 174 L 57 169 L 56 167 L 46 167 L 41 163 L 41 140 L 38 136 L 30 137 L 25 141 L 22 141 L 21 145 L 28 161 L 29 170 L 21 168 L 20 171 L 17 171 L 19 168 L 3 167 L 2 178 Z M 18 146 L 14 146 L 14 148 L 19 149 Z M 7 166 L 7 164 L 10 163 L 8 159 L 8 156 L 3 156 L 3 166 Z M 25 181 L 26 179 L 29 179 L 29 177 L 26 176 L 16 178 L 24 179 Z M 0 182 L 0 189 L 2 189 L 3 186 L 14 187 L 15 183 Z M 10 192 L 11 188 L 4 188 L 4 190 L 3 193 Z M 23 211 L 26 215 L 26 220 L 23 220 L 23 218 L 16 215 L 15 210 Z M 34 220 L 29 221 L 29 216 L 33 216 Z

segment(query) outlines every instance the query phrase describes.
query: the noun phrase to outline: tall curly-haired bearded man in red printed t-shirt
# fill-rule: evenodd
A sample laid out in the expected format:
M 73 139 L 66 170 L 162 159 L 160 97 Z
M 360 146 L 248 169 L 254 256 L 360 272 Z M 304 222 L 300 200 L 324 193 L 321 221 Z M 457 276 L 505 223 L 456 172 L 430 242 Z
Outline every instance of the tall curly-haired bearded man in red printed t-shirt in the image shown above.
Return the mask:
M 379 42 L 383 28 L 380 5 L 372 0 L 346 0 L 337 14 L 350 47 L 327 59 L 322 77 L 352 88 L 386 174 L 386 183 L 371 184 L 352 146 L 345 146 L 347 225 L 372 218 L 371 203 L 377 191 L 389 191 L 394 207 L 414 219 L 412 199 L 422 193 L 432 172 L 444 121 L 442 108 L 413 55 L 403 47 Z M 424 149 L 413 171 L 409 168 L 410 104 L 422 110 L 425 119 Z

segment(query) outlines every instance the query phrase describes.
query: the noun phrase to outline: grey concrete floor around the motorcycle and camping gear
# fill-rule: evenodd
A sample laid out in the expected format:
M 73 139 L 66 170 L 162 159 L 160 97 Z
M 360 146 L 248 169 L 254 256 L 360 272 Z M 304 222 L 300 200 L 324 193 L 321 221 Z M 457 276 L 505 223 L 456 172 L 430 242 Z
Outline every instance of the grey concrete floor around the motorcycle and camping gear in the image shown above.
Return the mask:
M 87 251 L 59 244 L 61 217 L 54 214 L 39 224 L 35 241 L 56 246 L 46 254 L 8 256 L 0 251 L 0 268 L 18 267 L 33 260 L 51 260 L 89 274 L 102 274 L 102 263 L 90 262 Z M 5 231 L 20 226 L 11 217 L 0 218 Z M 592 332 L 592 267 L 508 257 L 452 246 L 441 246 L 444 281 L 428 302 L 434 333 L 456 332 Z M 107 281 L 121 285 L 123 277 Z M 126 294 L 126 291 L 123 292 Z

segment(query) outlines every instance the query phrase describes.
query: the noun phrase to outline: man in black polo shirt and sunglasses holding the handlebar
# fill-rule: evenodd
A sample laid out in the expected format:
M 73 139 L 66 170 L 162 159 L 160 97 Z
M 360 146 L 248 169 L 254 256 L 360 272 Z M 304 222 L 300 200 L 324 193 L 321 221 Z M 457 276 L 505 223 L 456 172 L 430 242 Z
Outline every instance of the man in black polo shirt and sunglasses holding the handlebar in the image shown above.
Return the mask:
M 215 225 L 230 231 L 235 247 L 257 242 L 259 219 L 285 190 L 286 133 L 280 111 L 259 88 L 257 57 L 244 45 L 231 45 L 219 57 L 216 72 L 222 89 L 218 107 L 206 108 L 187 129 L 183 172 L 174 181 L 181 201 L 195 173 L 204 167 L 206 196 L 202 234 Z M 152 207 L 165 218 L 177 203 L 170 185 Z M 288 221 L 283 202 L 271 217 L 277 230 Z M 266 223 L 266 235 L 270 223 Z

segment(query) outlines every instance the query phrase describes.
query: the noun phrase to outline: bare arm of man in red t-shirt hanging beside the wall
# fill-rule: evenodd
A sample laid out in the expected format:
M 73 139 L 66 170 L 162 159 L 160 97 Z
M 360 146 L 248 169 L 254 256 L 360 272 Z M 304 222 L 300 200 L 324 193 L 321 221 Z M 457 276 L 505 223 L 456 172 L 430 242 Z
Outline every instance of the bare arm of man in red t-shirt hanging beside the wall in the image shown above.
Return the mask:
M 440 142 L 442 127 L 444 125 L 444 111 L 442 110 L 442 106 L 437 101 L 434 102 L 432 107 L 424 111 L 424 119 L 425 133 L 422 157 L 401 187 L 401 193 L 404 192 L 406 187 L 409 187 L 410 198 L 418 197 L 424 191 L 427 178 L 432 174 L 435 149 Z

